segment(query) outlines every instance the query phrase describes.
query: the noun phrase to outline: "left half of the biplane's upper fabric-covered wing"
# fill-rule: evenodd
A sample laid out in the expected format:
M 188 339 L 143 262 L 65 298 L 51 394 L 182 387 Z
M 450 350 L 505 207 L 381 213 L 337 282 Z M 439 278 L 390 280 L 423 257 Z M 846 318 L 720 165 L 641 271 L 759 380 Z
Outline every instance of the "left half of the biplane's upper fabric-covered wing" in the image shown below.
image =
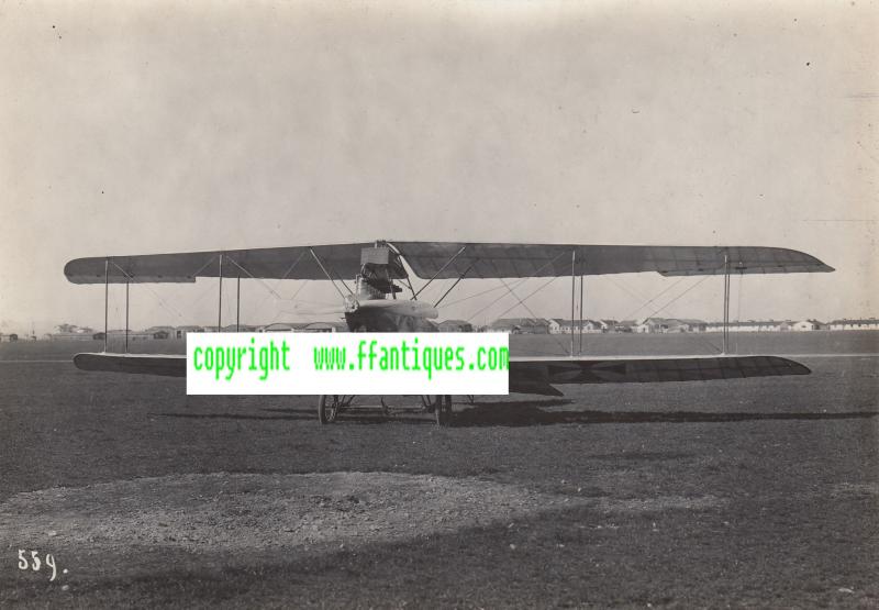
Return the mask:
M 223 276 L 262 279 L 326 279 L 311 249 L 333 278 L 353 278 L 360 269 L 360 252 L 370 243 L 268 247 L 223 251 Z M 191 282 L 220 275 L 220 252 L 145 254 L 77 258 L 64 267 L 74 284 L 103 284 L 104 262 L 110 284 Z

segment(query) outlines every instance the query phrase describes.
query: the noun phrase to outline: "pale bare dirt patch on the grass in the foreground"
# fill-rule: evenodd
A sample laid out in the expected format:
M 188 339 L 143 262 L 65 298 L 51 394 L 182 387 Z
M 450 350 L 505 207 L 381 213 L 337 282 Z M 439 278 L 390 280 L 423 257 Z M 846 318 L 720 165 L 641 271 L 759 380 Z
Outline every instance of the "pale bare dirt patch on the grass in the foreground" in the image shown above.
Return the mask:
M 40 547 L 190 552 L 353 547 L 591 506 L 602 512 L 703 510 L 717 498 L 613 500 L 541 493 L 476 478 L 391 473 L 210 474 L 18 493 L 0 504 L 2 537 Z

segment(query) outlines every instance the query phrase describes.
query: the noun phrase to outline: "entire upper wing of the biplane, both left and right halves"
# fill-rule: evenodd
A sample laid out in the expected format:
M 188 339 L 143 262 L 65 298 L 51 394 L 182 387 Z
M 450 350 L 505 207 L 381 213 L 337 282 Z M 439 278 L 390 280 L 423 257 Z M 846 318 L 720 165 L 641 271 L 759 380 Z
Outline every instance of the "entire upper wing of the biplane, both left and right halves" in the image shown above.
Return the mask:
M 218 277 L 353 278 L 372 243 L 77 258 L 64 268 L 75 284 L 188 282 Z M 515 278 L 657 271 L 665 276 L 832 271 L 794 249 L 753 246 L 616 246 L 392 242 L 420 278 Z M 318 259 L 321 260 L 319 264 Z M 107 274 L 104 276 L 104 274 Z

